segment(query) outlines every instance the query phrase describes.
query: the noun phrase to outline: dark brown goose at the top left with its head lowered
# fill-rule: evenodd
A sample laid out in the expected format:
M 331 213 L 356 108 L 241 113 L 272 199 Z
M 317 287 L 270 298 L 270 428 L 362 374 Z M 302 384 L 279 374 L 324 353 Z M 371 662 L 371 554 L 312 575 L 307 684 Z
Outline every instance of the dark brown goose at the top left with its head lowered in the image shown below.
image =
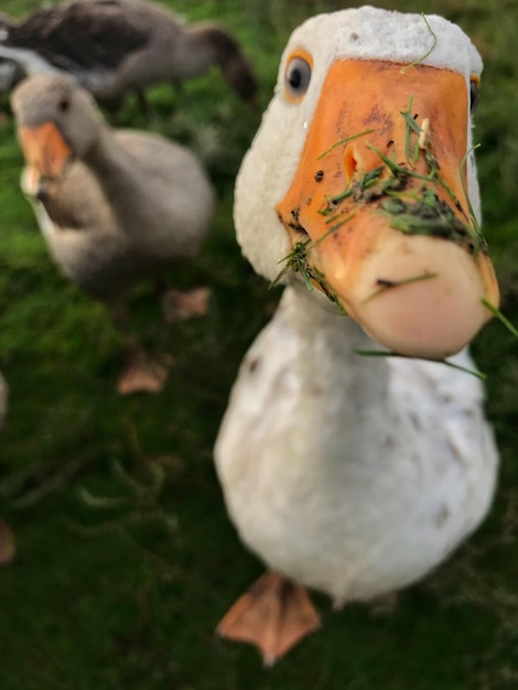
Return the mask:
M 165 8 L 138 0 L 72 2 L 19 23 L 0 15 L 0 57 L 17 61 L 26 74 L 67 72 L 111 106 L 212 66 L 244 100 L 252 101 L 257 90 L 252 68 L 226 29 L 214 22 L 185 25 Z

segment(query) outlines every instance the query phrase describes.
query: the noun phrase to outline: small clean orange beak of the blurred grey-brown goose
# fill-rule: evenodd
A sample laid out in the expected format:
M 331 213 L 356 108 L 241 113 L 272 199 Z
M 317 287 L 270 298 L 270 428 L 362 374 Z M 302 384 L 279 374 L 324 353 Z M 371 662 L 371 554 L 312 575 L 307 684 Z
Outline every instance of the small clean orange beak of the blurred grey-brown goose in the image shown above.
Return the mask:
M 20 127 L 18 136 L 26 164 L 39 177 L 55 180 L 63 175 L 72 151 L 53 122 Z

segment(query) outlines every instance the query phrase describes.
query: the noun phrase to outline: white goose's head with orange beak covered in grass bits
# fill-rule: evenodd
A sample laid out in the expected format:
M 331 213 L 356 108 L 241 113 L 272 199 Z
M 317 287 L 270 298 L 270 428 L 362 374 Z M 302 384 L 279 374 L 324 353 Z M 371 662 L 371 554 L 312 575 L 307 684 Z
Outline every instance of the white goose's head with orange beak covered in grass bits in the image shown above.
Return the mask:
M 471 131 L 482 67 L 435 15 L 364 7 L 299 26 L 236 183 L 256 271 L 303 277 L 400 354 L 465 346 L 498 302 Z

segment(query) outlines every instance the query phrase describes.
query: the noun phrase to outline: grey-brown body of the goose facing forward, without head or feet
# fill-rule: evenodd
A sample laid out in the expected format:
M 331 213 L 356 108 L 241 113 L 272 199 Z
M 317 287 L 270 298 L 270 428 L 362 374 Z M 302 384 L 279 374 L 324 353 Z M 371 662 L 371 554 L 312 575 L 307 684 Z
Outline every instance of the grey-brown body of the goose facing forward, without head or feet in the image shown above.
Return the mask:
M 161 137 L 118 130 L 102 148 L 91 162 L 74 161 L 56 185 L 34 185 L 26 168 L 22 186 L 62 272 L 109 301 L 196 256 L 213 192 L 194 155 Z

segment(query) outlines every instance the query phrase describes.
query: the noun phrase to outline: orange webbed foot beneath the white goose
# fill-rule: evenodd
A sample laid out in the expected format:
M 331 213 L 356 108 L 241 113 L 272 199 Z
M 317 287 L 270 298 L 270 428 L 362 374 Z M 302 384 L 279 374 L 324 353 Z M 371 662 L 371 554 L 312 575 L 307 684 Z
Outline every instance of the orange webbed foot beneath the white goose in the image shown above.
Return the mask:
M 305 589 L 284 575 L 267 572 L 234 604 L 216 632 L 256 645 L 265 664 L 271 666 L 320 626 Z

